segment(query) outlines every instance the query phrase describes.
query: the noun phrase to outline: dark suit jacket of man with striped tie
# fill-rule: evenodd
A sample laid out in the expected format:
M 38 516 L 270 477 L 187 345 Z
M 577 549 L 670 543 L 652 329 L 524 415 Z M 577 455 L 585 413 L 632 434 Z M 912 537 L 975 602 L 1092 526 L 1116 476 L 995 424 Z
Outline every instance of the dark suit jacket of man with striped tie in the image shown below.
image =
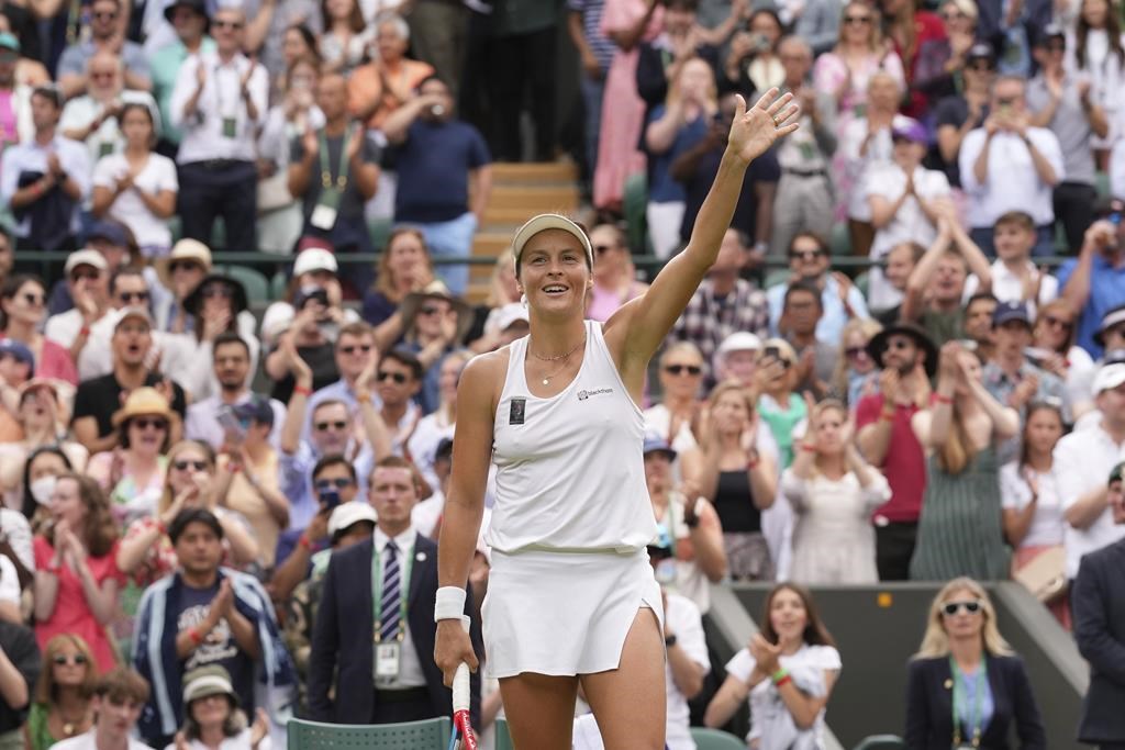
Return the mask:
M 376 693 L 371 678 L 374 651 L 371 633 L 371 551 L 374 540 L 366 540 L 332 555 L 324 577 L 321 605 L 316 611 L 312 651 L 308 660 L 308 711 L 310 719 L 333 724 L 367 724 L 375 710 Z M 414 650 L 422 663 L 434 716 L 453 713 L 452 693 L 442 684 L 441 670 L 433 661 L 436 625 L 433 605 L 438 591 L 438 545 L 417 536 L 411 571 L 411 591 L 406 622 Z M 465 614 L 472 614 L 472 591 L 465 602 Z M 482 659 L 480 624 L 472 623 L 474 649 Z M 483 661 L 483 659 L 482 659 Z M 335 681 L 335 699 L 330 690 Z M 472 723 L 479 726 L 480 672 L 472 675 Z

